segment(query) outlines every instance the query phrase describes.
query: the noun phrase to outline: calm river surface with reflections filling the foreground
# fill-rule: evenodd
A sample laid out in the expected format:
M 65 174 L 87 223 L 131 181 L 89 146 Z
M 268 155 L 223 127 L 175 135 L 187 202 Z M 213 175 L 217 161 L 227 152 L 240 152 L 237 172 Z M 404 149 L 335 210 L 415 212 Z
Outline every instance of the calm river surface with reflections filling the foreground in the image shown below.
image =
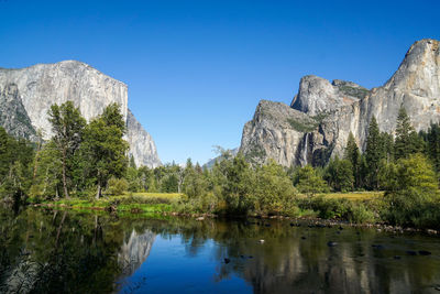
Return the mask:
M 0 292 L 440 293 L 439 238 L 266 224 L 0 209 Z

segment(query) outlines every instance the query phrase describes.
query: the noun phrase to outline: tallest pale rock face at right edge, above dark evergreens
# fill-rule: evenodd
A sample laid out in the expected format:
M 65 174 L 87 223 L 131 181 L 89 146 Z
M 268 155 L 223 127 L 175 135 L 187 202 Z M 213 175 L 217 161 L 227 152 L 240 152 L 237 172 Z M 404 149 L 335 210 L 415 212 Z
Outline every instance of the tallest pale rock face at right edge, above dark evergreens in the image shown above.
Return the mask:
M 405 55 L 393 77 L 361 102 L 360 139 L 366 138 L 366 126 L 373 116 L 382 131 L 394 132 L 400 106 L 405 107 L 417 131 L 440 120 L 440 42 L 421 40 Z

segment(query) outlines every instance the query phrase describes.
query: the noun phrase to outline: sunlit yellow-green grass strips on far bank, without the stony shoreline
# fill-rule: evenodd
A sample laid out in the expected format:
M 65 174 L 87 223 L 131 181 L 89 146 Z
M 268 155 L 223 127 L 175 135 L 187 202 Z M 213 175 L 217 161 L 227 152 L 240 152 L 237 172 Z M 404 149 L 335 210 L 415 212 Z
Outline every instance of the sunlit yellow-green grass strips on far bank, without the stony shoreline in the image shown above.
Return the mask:
M 299 195 L 294 202 L 298 209 L 293 217 L 321 217 L 321 218 L 343 218 L 346 214 L 350 220 L 364 222 L 373 221 L 373 214 L 365 204 L 377 203 L 383 197 L 382 192 L 354 192 L 354 193 L 327 193 L 319 194 L 311 198 Z M 178 193 L 130 193 L 119 196 L 108 196 L 100 199 L 58 199 L 43 200 L 29 198 L 28 202 L 35 206 L 55 207 L 59 209 L 68 208 L 76 210 L 108 210 L 118 213 L 151 214 L 151 213 L 183 213 L 182 202 L 187 199 Z M 362 209 L 360 210 L 359 207 Z M 185 207 L 186 208 L 186 207 Z M 352 210 L 362 213 L 363 216 L 351 213 Z M 200 214 L 190 209 L 184 214 Z M 251 214 L 256 216 L 255 214 Z M 353 216 L 354 215 L 354 216 Z

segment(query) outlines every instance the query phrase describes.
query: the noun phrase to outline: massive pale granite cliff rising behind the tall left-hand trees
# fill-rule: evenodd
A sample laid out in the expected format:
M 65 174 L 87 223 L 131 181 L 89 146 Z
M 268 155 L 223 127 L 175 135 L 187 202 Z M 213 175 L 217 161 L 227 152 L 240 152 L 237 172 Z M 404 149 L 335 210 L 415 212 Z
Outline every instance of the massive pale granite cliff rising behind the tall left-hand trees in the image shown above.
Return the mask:
M 161 164 L 153 139 L 128 108 L 128 87 L 122 81 L 76 61 L 0 68 L 0 126 L 15 137 L 33 140 L 40 130 L 44 139 L 51 138 L 47 110 L 53 104 L 67 100 L 74 101 L 87 120 L 100 115 L 109 104 L 119 104 L 136 165 Z

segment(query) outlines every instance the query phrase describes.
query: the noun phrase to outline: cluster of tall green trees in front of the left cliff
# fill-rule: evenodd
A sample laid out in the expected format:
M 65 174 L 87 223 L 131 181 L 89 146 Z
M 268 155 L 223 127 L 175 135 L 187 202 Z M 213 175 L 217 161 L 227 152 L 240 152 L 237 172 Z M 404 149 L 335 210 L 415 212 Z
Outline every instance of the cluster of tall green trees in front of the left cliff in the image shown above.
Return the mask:
M 102 196 L 111 177 L 124 177 L 128 143 L 125 122 L 117 104 L 90 122 L 72 101 L 48 111 L 53 137 L 36 143 L 8 135 L 0 128 L 0 195 L 70 198 Z

